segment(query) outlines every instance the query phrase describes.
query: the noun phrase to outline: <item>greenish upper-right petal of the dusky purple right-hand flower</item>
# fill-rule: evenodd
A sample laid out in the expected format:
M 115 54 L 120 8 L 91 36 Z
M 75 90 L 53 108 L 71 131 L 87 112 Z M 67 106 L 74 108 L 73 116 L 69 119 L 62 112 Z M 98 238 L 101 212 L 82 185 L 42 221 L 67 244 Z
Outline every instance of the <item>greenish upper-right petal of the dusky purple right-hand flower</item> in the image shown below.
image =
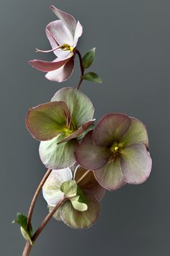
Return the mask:
M 142 143 L 146 145 L 146 148 L 148 148 L 148 134 L 146 126 L 134 117 L 130 117 L 130 119 L 131 123 L 128 132 L 125 133 L 120 142 L 124 143 L 124 145 Z

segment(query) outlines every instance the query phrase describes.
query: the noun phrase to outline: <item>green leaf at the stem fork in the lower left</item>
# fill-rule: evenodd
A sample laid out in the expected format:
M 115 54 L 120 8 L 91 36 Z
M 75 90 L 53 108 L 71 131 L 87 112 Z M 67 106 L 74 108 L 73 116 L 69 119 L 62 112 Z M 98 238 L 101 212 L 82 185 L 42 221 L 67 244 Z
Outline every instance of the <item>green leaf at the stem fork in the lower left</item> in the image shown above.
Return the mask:
M 30 231 L 27 230 L 27 217 L 24 216 L 22 213 L 17 213 L 17 220 L 12 221 L 12 223 L 17 223 L 20 226 L 22 236 L 24 239 L 26 239 L 28 242 L 30 242 L 31 245 L 33 245 L 32 242 L 32 225 L 30 226 Z

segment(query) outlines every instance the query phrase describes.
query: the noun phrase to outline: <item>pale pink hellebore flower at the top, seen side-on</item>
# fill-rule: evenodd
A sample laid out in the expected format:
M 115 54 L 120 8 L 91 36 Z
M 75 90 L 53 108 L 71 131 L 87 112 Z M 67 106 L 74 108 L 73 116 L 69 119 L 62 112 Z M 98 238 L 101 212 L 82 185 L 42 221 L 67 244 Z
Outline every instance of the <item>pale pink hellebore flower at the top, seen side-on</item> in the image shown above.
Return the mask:
M 46 35 L 50 41 L 53 53 L 57 58 L 54 61 L 41 61 L 34 59 L 30 61 L 32 67 L 42 72 L 48 72 L 45 77 L 55 82 L 67 80 L 74 66 L 74 55 L 79 37 L 83 33 L 80 22 L 66 12 L 63 12 L 53 6 L 50 7 L 57 15 L 59 20 L 50 22 L 46 27 Z M 41 51 L 38 50 L 37 51 Z M 41 51 L 41 52 L 50 52 Z

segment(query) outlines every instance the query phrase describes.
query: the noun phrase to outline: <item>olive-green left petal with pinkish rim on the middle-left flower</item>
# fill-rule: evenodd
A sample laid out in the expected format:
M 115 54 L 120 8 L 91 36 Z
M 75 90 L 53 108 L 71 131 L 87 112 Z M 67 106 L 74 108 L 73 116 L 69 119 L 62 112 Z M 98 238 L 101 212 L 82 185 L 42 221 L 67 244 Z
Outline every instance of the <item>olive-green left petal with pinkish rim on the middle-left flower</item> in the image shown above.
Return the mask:
M 51 140 L 69 122 L 69 110 L 64 101 L 49 102 L 30 108 L 26 116 L 26 125 L 36 140 Z

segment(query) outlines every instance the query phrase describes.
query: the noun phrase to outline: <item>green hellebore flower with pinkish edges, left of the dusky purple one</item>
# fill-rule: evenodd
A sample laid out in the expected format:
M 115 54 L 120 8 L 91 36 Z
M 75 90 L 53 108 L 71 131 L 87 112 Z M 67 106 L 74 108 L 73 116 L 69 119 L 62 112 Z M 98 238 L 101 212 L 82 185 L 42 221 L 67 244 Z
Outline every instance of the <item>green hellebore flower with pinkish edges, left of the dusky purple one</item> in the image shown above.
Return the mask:
M 79 137 L 94 123 L 94 106 L 74 88 L 62 88 L 51 102 L 30 108 L 26 125 L 40 140 L 40 158 L 47 168 L 66 168 L 76 162 L 74 151 Z

